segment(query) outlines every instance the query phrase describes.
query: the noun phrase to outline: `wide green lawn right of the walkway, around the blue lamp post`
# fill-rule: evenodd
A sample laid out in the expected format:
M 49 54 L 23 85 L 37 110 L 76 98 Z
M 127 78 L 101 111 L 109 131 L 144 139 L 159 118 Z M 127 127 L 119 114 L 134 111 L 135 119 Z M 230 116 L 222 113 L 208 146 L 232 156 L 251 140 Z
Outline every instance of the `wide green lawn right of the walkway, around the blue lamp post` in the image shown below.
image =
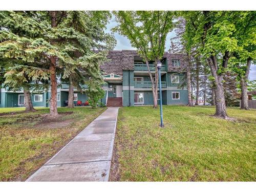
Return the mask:
M 112 181 L 255 181 L 256 110 L 213 107 L 119 109 Z

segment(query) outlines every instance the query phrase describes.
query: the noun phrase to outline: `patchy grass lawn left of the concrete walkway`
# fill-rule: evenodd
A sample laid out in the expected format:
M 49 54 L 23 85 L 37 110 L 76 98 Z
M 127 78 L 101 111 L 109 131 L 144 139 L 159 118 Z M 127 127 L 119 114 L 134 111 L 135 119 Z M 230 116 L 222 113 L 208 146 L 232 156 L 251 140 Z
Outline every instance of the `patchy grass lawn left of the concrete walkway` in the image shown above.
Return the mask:
M 0 113 L 17 112 L 0 115 L 0 181 L 26 180 L 106 108 L 58 108 L 62 115 L 55 124 L 68 122 L 62 127 L 45 121 L 49 108 L 21 113 L 24 109 L 0 108 Z

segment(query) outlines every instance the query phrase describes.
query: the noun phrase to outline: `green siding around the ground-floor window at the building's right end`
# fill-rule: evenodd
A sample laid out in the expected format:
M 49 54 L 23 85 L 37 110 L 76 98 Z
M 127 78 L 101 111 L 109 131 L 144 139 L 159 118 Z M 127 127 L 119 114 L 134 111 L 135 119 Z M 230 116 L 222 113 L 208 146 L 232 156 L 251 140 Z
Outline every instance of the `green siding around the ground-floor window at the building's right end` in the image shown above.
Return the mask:
M 172 92 L 180 92 L 180 99 L 173 99 Z M 187 90 L 167 90 L 167 104 L 168 105 L 187 105 L 188 103 L 188 93 Z

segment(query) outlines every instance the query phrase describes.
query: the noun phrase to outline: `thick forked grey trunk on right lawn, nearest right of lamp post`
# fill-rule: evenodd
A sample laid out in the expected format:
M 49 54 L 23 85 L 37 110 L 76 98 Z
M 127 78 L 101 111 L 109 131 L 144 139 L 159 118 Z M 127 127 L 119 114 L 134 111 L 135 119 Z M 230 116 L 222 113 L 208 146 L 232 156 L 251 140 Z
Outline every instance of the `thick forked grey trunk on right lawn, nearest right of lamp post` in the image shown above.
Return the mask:
M 215 116 L 221 117 L 221 118 L 227 118 L 227 112 L 226 112 L 226 103 L 225 103 L 225 96 L 224 96 L 224 90 L 223 90 L 223 74 L 218 75 L 218 63 L 217 58 L 215 56 L 211 56 L 211 58 L 208 58 L 209 67 L 211 70 L 212 76 L 214 76 L 214 82 L 215 82 L 215 97 L 216 97 L 216 105 L 215 105 Z M 226 58 L 223 59 L 224 62 L 227 62 Z M 226 63 L 227 64 L 227 63 Z M 226 66 L 226 65 L 225 65 Z

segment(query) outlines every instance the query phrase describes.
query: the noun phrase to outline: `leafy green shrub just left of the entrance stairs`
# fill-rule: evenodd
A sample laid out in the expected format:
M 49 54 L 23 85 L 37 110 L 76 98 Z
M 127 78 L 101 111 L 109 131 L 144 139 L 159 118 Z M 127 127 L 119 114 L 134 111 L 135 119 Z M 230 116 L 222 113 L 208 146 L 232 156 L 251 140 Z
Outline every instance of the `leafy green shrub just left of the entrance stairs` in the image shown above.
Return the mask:
M 93 109 L 96 108 L 99 100 L 105 95 L 105 91 L 101 89 L 100 85 L 92 80 L 90 80 L 88 83 L 88 90 L 86 93 L 88 96 L 88 102 Z

